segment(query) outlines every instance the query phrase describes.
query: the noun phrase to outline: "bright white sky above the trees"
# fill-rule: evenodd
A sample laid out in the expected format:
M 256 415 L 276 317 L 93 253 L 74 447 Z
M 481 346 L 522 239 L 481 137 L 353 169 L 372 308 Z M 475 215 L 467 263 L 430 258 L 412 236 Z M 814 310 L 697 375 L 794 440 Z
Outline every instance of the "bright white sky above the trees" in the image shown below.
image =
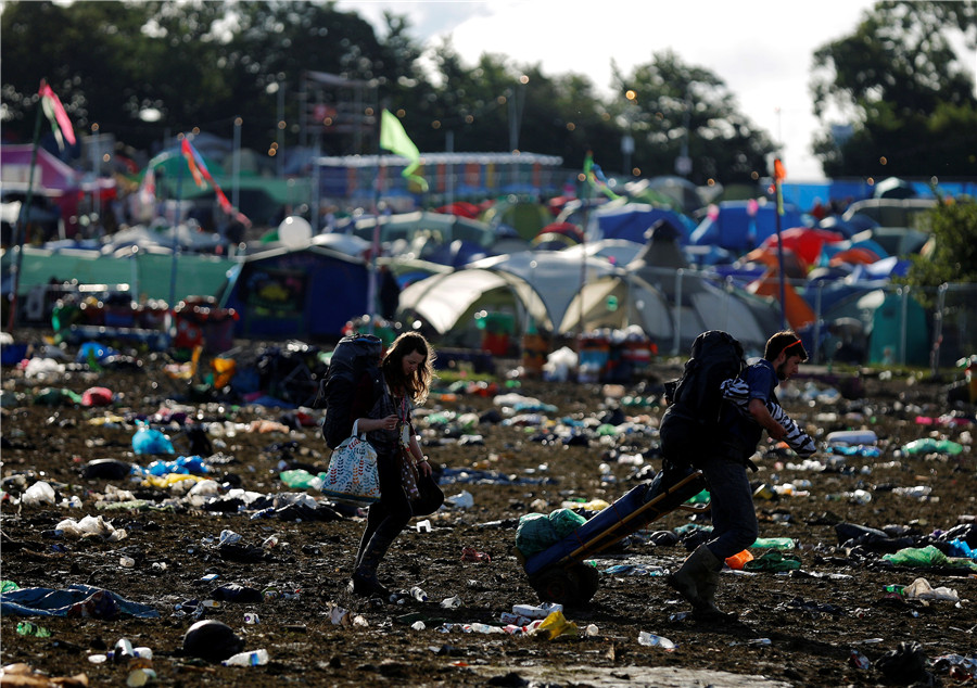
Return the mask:
M 824 179 L 811 142 L 820 128 L 809 94 L 814 51 L 853 31 L 873 0 L 340 0 L 382 36 L 383 12 L 406 15 L 428 47 L 451 36 L 465 64 L 491 52 L 540 64 L 547 76 L 589 77 L 610 94 L 611 62 L 629 74 L 672 50 L 722 79 L 740 112 L 783 143 L 790 181 Z M 529 85 L 529 88 L 532 84 Z M 833 124 L 841 124 L 840 119 Z M 533 151 L 529 151 L 533 152 Z M 635 161 L 638 162 L 638 161 Z

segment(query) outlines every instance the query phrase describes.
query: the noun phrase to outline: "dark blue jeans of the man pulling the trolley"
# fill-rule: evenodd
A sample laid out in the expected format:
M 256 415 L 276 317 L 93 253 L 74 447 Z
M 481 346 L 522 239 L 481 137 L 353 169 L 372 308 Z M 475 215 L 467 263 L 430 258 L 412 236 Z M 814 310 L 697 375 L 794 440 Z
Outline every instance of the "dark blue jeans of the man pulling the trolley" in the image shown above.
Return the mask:
M 753 490 L 747 477 L 746 466 L 721 454 L 700 459 L 709 484 L 712 502 L 712 539 L 706 543 L 709 551 L 724 560 L 741 552 L 757 540 L 759 527 L 753 508 Z

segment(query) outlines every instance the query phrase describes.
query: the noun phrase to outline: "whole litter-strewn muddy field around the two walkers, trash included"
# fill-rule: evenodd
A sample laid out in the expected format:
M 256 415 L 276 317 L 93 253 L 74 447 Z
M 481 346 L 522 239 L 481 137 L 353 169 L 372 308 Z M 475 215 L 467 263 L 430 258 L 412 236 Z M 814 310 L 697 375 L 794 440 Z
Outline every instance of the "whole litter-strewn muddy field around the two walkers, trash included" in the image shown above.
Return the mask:
M 662 576 L 708 514 L 668 513 L 587 559 L 584 604 L 540 599 L 522 563 L 655 476 L 678 361 L 635 387 L 442 382 L 418 416 L 445 504 L 381 566 L 392 598 L 364 600 L 346 581 L 365 512 L 321 496 L 322 411 L 300 403 L 319 359 L 289 351 L 219 372 L 92 347 L 4 368 L 0 681 L 975 680 L 977 429 L 939 384 L 783 390 L 817 451 L 757 460 L 761 537 L 721 591 L 739 621 L 703 624 Z M 201 384 L 207 370 L 239 390 Z

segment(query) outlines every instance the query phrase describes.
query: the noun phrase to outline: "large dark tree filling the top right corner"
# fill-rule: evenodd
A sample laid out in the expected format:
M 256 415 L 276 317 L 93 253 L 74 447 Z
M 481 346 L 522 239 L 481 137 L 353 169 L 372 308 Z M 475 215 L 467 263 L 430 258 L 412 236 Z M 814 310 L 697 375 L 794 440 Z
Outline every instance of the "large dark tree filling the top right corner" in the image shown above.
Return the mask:
M 814 52 L 814 142 L 829 177 L 977 174 L 973 52 L 977 2 L 878 2 L 855 30 Z M 829 117 L 852 125 L 836 140 Z

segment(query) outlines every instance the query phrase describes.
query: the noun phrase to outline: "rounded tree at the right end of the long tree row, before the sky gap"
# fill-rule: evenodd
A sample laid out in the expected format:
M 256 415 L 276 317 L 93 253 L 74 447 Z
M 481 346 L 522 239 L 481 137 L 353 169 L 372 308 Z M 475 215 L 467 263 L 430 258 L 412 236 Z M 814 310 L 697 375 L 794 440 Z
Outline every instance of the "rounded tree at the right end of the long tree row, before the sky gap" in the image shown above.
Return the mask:
M 698 184 L 751 182 L 766 174 L 773 142 L 739 112 L 712 72 L 664 51 L 630 75 L 614 68 L 613 80 L 618 95 L 611 107 L 634 136 L 633 161 L 643 176 L 673 174 L 683 154 Z

